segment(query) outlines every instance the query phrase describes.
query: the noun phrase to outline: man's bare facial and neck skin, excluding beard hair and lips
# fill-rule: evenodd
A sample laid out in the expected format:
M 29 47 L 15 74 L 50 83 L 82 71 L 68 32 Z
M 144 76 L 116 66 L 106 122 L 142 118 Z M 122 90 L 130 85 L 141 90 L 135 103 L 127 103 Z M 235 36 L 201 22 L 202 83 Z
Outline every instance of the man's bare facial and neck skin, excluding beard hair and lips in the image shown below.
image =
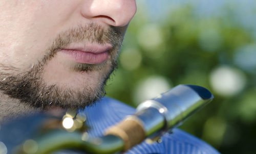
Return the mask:
M 0 8 L 1 121 L 10 115 L 18 116 L 38 110 L 49 110 L 55 106 L 63 107 L 61 102 L 52 106 L 42 104 L 42 107 L 26 104 L 19 96 L 12 96 L 3 90 L 3 85 L 11 85 L 14 78 L 10 76 L 28 75 L 27 72 L 35 69 L 34 67 L 39 68 L 58 36 L 64 34 L 63 38 L 69 38 L 66 34 L 70 30 L 86 28 L 89 25 L 104 32 L 112 28 L 122 38 L 136 12 L 136 3 L 135 0 L 2 0 Z M 96 29 L 93 31 L 97 36 Z M 103 43 L 92 41 L 90 38 L 72 39 L 61 47 L 110 43 L 106 39 L 108 37 L 104 37 Z M 56 49 L 51 58 L 41 66 L 40 73 L 37 73 L 38 80 L 42 83 L 41 86 L 57 87 L 58 91 L 55 93 L 66 89 L 75 91 L 74 98 L 77 99 L 79 95 L 76 95 L 76 92 L 93 95 L 93 91 L 100 89 L 108 78 L 106 74 L 111 73 L 114 67 L 112 62 L 118 56 L 120 43 L 113 48 L 114 54 L 109 54 L 104 63 L 79 71 L 74 69 L 74 66 L 78 65 L 77 62 Z M 98 96 L 95 97 L 97 99 Z M 73 104 L 67 106 L 76 107 Z

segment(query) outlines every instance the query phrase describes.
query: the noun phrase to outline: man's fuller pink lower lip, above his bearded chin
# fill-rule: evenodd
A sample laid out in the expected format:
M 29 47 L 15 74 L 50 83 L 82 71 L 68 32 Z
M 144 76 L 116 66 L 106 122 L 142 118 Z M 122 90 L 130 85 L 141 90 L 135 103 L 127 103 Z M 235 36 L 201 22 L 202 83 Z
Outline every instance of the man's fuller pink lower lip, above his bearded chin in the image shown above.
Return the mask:
M 69 49 L 62 49 L 59 52 L 83 64 L 100 64 L 108 59 L 108 52 L 93 54 Z

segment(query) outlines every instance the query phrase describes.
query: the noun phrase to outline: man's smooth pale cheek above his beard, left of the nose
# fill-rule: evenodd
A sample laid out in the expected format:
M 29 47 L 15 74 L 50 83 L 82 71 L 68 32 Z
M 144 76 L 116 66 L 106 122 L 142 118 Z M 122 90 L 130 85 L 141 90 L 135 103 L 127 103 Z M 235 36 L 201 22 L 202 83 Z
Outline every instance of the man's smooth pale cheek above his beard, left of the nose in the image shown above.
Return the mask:
M 61 31 L 72 9 L 76 7 L 75 1 L 70 5 L 67 5 L 67 2 L 1 1 L 1 63 L 25 68 L 41 60 L 51 41 Z

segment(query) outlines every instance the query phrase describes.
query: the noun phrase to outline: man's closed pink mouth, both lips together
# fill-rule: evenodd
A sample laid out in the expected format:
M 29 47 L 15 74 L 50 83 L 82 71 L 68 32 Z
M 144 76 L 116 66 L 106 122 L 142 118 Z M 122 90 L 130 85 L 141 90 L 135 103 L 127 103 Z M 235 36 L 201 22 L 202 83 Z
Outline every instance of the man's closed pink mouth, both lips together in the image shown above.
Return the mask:
M 62 48 L 58 53 L 67 56 L 69 59 L 82 64 L 101 64 L 108 60 L 109 51 L 112 48 L 110 44 L 87 44 L 70 45 Z

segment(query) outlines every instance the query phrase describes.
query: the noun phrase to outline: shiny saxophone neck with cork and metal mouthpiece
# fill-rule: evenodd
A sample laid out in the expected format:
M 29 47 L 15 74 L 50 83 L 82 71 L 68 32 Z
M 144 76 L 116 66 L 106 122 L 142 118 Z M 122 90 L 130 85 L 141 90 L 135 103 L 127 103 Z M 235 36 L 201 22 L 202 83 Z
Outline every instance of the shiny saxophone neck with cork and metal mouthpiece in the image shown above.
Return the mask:
M 27 143 L 16 142 L 18 144 L 15 145 L 10 141 L 5 142 L 0 136 L 0 153 L 1 145 L 6 148 L 7 153 L 14 154 L 46 154 L 64 148 L 79 150 L 82 153 L 124 152 L 142 141 L 148 143 L 159 141 L 164 133 L 172 132 L 172 129 L 181 125 L 213 98 L 214 96 L 203 87 L 178 85 L 154 99 L 143 101 L 137 107 L 135 114 L 129 115 L 121 122 L 109 127 L 105 131 L 105 135 L 100 138 L 84 137 L 86 124 L 83 122 L 82 116 L 76 115 L 76 113 L 73 113 L 73 117 L 70 114 L 70 118 L 77 125 L 73 131 L 67 131 L 59 126 L 62 124 L 63 118 L 42 116 L 41 119 L 44 119 L 42 121 L 48 121 L 48 126 L 43 129 L 33 126 L 33 129 L 40 131 L 33 134 L 35 136 L 33 139 L 26 140 Z M 51 120 L 45 120 L 49 118 Z M 39 119 L 37 118 L 36 121 Z M 34 122 L 36 123 L 36 121 Z M 5 125 L 3 125 L 3 129 L 5 130 Z M 1 131 L 3 130 L 0 130 L 0 135 Z

